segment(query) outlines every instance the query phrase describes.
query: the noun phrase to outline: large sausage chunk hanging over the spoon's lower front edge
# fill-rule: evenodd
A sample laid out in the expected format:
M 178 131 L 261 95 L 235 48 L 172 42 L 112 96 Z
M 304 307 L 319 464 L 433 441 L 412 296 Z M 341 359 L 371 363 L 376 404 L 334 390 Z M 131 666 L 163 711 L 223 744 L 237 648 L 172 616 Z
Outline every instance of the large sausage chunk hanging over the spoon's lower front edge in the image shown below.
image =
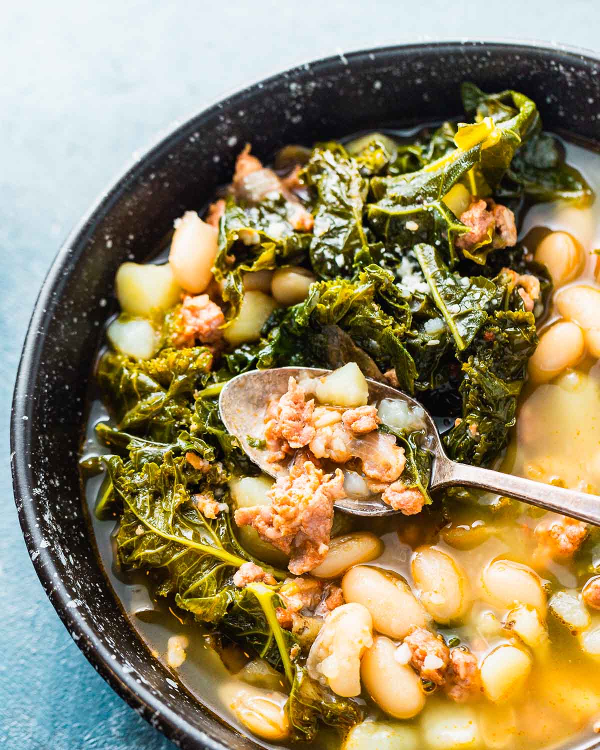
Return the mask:
M 296 575 L 312 570 L 329 550 L 333 504 L 345 497 L 344 474 L 323 474 L 312 463 L 296 463 L 267 493 L 270 505 L 236 510 L 239 526 L 253 526 L 265 541 L 290 556 Z

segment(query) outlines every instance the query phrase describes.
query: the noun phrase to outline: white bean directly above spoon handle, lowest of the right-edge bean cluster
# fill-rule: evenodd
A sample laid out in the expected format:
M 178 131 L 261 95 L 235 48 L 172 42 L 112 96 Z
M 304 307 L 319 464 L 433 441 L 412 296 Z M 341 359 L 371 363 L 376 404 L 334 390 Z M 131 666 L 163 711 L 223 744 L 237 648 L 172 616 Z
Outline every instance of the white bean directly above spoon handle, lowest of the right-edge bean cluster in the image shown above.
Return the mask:
M 562 320 L 546 329 L 529 359 L 529 376 L 546 383 L 567 368 L 573 368 L 585 353 L 583 332 L 575 323 Z

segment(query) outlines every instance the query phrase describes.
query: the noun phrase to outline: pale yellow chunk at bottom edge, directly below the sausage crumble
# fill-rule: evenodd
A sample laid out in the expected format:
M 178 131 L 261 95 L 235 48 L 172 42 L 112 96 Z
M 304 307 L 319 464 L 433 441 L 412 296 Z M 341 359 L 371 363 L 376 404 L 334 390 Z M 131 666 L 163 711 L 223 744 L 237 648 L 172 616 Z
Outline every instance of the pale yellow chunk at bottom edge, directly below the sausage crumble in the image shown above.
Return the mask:
M 428 750 L 478 750 L 481 747 L 477 715 L 470 706 L 432 700 L 420 718 Z

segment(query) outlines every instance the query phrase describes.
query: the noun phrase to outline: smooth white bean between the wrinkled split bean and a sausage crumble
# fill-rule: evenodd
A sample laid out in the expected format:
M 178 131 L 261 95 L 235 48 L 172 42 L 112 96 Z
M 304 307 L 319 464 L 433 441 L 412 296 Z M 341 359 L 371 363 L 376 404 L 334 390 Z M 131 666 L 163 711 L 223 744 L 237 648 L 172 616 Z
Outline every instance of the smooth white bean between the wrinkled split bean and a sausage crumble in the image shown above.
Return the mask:
M 394 718 L 411 718 L 425 706 L 425 694 L 412 667 L 394 658 L 396 648 L 392 640 L 378 635 L 362 658 L 362 682 L 380 709 Z

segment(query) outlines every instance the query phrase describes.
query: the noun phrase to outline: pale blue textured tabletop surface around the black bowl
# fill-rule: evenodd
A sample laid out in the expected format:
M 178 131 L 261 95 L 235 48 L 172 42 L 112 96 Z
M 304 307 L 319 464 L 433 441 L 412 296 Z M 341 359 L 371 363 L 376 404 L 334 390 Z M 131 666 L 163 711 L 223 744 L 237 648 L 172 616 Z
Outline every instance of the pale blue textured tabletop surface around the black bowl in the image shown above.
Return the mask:
M 365 14 L 365 7 L 368 14 Z M 511 37 L 598 49 L 589 0 L 354 0 L 209 6 L 41 0 L 3 8 L 0 43 L 0 746 L 172 745 L 88 664 L 28 559 L 8 469 L 14 375 L 37 289 L 92 199 L 152 137 L 251 80 L 341 50 Z M 568 17 L 565 17 L 568 16 Z

